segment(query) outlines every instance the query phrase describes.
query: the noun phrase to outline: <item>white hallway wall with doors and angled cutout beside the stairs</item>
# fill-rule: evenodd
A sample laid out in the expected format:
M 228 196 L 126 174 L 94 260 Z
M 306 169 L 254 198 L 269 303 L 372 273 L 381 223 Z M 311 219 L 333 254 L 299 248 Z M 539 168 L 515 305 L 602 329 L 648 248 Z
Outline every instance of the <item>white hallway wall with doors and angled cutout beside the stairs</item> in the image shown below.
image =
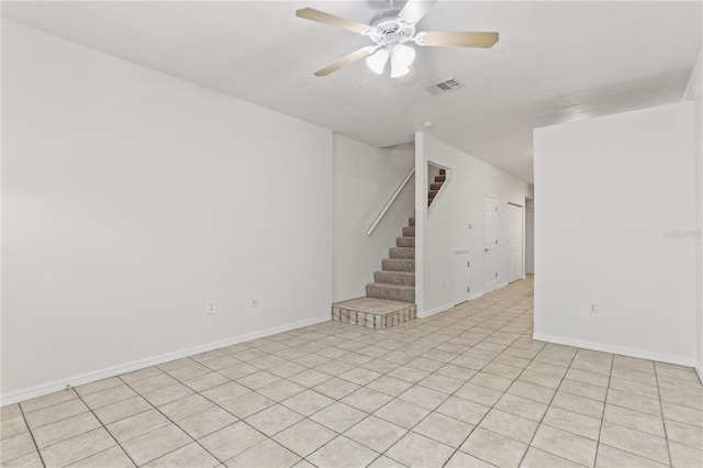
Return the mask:
M 448 182 L 427 210 L 427 194 L 415 186 L 417 213 L 416 281 L 419 314 L 426 316 L 453 305 L 453 252 L 469 249 L 471 263 L 470 297 L 483 292 L 483 196 L 498 198 L 499 203 L 499 268 L 498 285 L 506 280 L 507 220 L 506 205 L 525 204 L 532 196 L 527 182 L 469 156 L 424 133 L 415 135 L 415 180 L 426 180 L 427 161 L 446 167 Z M 473 223 L 473 229 L 469 229 Z M 524 253 L 523 253 L 524 254 Z M 420 289 L 422 289 L 420 291 Z

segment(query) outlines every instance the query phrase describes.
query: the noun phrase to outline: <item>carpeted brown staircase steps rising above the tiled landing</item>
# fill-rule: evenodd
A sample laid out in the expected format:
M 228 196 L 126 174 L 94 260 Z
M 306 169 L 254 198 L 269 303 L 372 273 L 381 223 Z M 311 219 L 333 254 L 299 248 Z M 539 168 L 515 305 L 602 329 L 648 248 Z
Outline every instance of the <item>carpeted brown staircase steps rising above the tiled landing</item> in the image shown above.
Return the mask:
M 373 272 L 373 282 L 366 285 L 366 297 L 415 303 L 414 218 L 403 227 L 403 236 L 395 237 L 395 247 L 389 249 L 389 257 L 381 260 L 381 271 Z

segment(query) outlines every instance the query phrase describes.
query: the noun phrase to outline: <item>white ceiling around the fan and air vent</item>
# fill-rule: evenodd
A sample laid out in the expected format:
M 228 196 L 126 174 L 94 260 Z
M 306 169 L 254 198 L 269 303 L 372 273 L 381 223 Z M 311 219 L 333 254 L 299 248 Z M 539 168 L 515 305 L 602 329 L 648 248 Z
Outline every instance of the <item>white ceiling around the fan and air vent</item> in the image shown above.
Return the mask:
M 402 3 L 402 2 L 397 2 Z M 491 49 L 417 47 L 402 87 L 364 62 L 313 71 L 370 40 L 295 18 L 312 7 L 368 23 L 387 2 L 2 2 L 2 15 L 373 146 L 422 123 L 532 181 L 532 131 L 677 102 L 702 42 L 702 2 L 439 1 L 419 30 L 498 31 Z M 465 88 L 424 86 L 456 77 Z

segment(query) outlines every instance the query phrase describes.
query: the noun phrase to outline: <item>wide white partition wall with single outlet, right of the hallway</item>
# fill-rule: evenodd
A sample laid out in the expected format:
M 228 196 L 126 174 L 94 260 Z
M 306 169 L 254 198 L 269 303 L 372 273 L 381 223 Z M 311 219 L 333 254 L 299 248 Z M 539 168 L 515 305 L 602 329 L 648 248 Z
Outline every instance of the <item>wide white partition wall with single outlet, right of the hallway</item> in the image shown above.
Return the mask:
M 536 339 L 693 365 L 692 174 L 690 102 L 535 131 Z

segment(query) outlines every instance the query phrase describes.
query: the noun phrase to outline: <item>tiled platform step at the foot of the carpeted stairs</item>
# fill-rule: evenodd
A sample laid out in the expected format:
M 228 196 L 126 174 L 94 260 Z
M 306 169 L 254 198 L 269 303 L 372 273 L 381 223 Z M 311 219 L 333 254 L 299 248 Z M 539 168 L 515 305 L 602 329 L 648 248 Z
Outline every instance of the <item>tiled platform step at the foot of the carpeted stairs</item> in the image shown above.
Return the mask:
M 417 305 L 376 298 L 359 298 L 332 304 L 332 320 L 384 330 L 417 316 Z

